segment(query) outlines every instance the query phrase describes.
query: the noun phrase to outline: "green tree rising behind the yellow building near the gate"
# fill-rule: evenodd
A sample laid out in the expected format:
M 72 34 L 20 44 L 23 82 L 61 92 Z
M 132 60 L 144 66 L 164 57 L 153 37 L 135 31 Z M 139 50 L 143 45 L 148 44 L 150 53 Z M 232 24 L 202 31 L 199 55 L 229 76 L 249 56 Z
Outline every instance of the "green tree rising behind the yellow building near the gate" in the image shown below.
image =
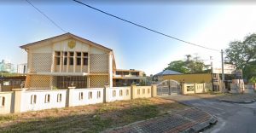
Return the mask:
M 182 73 L 201 73 L 204 72 L 205 64 L 203 61 L 198 60 L 199 57 L 190 60 L 191 55 L 186 55 L 186 61 L 172 61 L 165 70 L 173 70 Z

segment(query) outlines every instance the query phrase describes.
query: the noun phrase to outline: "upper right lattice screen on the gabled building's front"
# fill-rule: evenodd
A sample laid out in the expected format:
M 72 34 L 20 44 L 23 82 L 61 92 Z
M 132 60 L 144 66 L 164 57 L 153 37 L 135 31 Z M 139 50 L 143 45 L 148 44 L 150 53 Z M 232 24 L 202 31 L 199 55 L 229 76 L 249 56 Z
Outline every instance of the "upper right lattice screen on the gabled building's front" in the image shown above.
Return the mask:
M 90 72 L 107 73 L 108 72 L 108 55 L 92 54 L 90 55 Z

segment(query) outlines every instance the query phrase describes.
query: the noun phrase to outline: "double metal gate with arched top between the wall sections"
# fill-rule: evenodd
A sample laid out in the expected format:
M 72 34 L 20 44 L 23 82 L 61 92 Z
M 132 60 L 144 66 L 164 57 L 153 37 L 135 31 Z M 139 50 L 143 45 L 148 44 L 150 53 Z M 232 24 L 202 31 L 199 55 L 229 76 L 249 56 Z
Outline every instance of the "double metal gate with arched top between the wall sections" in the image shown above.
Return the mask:
M 177 95 L 181 93 L 181 86 L 175 80 L 164 80 L 157 84 L 157 95 Z

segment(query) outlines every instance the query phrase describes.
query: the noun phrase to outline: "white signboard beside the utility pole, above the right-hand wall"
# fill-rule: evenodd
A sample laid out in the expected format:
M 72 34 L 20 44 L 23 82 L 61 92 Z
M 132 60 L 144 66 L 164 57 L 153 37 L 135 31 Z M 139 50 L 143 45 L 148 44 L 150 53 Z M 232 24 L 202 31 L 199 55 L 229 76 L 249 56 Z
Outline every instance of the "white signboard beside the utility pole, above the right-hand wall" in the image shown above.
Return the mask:
M 235 74 L 236 66 L 224 64 L 224 74 Z M 222 73 L 221 63 L 212 63 L 212 73 Z

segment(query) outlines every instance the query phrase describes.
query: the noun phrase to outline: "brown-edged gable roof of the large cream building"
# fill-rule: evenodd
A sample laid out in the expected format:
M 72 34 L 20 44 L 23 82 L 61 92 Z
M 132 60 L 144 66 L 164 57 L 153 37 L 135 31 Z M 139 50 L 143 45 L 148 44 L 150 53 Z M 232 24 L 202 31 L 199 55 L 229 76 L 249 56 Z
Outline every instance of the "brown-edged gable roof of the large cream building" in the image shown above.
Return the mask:
M 55 37 L 52 37 L 52 38 L 46 38 L 46 39 L 38 41 L 38 42 L 27 43 L 25 45 L 20 46 L 20 48 L 21 49 L 28 49 L 29 47 L 32 47 L 32 46 L 35 46 L 35 45 L 38 45 L 38 44 L 46 44 L 48 42 L 58 42 L 58 41 L 61 41 L 61 40 L 65 40 L 67 38 L 76 38 L 81 42 L 89 43 L 90 45 L 96 46 L 98 48 L 105 49 L 105 50 L 108 50 L 108 51 L 113 51 L 112 49 L 109 49 L 105 46 L 102 46 L 101 44 L 91 42 L 90 40 L 87 40 L 85 38 L 80 38 L 79 36 L 73 35 L 70 32 L 67 32 L 65 34 L 61 34 L 59 36 L 55 36 Z

